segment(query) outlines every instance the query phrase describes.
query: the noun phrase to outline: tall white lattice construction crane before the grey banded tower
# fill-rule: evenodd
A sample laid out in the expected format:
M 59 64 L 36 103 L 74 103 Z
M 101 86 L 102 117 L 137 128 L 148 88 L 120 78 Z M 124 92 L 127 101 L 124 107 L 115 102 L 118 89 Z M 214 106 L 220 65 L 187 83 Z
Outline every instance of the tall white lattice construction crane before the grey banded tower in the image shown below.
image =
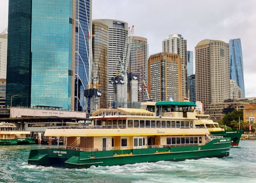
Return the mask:
M 134 26 L 132 29 L 128 28 L 128 34 L 125 38 L 123 60 L 117 55 L 118 63 L 120 64 L 120 74 L 124 77 L 124 108 L 127 108 L 127 84 L 128 84 L 128 68 L 131 54 L 132 36 L 134 32 Z

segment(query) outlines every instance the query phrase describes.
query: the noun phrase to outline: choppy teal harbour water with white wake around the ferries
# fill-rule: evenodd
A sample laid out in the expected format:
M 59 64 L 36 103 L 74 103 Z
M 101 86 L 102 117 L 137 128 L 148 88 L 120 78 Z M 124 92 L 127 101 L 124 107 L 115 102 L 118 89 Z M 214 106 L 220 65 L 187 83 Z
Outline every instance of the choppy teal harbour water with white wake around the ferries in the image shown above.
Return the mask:
M 256 182 L 256 140 L 240 141 L 225 158 L 65 169 L 28 165 L 30 146 L 0 146 L 0 182 Z

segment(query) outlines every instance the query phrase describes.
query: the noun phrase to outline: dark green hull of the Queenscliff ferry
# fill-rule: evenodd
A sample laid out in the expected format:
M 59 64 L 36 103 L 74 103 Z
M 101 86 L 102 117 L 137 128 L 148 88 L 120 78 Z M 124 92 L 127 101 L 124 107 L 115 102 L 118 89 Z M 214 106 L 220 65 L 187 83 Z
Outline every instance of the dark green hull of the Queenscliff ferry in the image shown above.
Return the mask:
M 238 146 L 242 133 L 243 133 L 243 130 L 211 132 L 211 134 L 214 136 L 223 136 L 224 138 L 231 138 L 231 146 Z

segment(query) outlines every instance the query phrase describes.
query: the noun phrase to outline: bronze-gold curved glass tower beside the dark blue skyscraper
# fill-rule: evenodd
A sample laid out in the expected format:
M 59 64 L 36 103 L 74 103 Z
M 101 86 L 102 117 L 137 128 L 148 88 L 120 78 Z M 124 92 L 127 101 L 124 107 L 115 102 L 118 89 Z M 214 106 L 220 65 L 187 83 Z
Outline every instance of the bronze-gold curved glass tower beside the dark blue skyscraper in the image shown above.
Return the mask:
M 92 53 L 98 84 L 101 89 L 100 107 L 107 107 L 108 96 L 108 26 L 99 21 L 92 21 Z

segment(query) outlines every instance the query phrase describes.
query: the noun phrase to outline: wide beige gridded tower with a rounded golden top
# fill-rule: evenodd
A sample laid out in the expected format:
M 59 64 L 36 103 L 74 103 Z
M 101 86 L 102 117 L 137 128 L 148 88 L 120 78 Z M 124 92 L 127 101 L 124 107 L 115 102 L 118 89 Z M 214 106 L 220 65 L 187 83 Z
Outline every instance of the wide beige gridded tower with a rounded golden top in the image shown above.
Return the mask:
M 204 39 L 195 47 L 196 101 L 204 104 L 230 98 L 229 47 L 219 40 Z

